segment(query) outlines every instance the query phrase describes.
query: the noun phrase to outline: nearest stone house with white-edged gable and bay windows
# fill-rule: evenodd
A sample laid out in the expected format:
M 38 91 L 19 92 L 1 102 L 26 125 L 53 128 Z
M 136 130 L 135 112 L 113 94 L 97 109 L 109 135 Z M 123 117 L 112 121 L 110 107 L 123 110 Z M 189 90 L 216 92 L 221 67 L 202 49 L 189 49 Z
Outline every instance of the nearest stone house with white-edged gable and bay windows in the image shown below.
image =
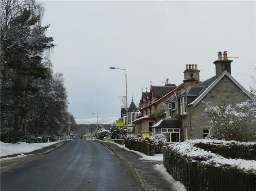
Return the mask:
M 252 99 L 252 95 L 231 76 L 232 62 L 226 51 L 223 59 L 218 52 L 218 59 L 213 62 L 216 75 L 200 83 L 197 83 L 199 73 L 186 72 L 185 89 L 172 94 L 165 102 L 167 115 L 153 126 L 155 132 L 166 134 L 169 142 L 202 139 L 210 133 L 209 119 L 204 115 L 206 102 L 225 106 Z

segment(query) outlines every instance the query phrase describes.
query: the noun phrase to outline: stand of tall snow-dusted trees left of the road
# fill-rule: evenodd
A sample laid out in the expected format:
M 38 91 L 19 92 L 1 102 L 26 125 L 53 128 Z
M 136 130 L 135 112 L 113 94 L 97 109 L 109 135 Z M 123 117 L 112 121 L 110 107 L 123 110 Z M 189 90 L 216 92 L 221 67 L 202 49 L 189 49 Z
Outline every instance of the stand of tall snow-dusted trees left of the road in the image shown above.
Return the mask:
M 35 0 L 1 0 L 1 133 L 66 132 L 70 127 L 62 74 L 53 74 L 48 52 L 55 45 L 41 26 L 44 8 Z

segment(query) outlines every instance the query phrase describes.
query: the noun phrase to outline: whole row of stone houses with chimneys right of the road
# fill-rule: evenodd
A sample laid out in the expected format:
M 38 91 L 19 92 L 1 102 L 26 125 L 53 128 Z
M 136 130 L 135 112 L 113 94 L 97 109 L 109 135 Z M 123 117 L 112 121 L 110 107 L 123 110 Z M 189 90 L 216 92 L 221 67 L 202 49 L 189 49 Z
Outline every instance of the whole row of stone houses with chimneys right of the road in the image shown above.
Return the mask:
M 223 54 L 222 54 L 223 53 Z M 121 118 L 128 117 L 127 134 L 142 136 L 143 132 L 162 133 L 167 142 L 202 139 L 207 136 L 209 119 L 204 115 L 205 103 L 225 106 L 252 99 L 252 95 L 231 75 L 231 63 L 227 52 L 218 52 L 216 75 L 200 81 L 197 64 L 185 64 L 184 79 L 179 85 L 151 85 L 150 91 L 141 93 L 137 107 L 132 102 Z

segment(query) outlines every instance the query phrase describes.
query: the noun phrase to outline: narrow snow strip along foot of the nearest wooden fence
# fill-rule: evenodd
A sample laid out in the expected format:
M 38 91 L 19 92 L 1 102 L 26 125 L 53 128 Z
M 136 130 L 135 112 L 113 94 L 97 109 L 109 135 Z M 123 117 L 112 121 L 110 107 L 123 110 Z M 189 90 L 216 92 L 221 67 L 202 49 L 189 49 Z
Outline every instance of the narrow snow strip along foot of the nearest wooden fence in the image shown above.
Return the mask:
M 184 185 L 180 181 L 172 178 L 172 175 L 166 171 L 163 165 L 154 165 L 154 169 L 159 171 L 163 175 L 163 178 L 172 185 L 173 191 L 186 191 Z

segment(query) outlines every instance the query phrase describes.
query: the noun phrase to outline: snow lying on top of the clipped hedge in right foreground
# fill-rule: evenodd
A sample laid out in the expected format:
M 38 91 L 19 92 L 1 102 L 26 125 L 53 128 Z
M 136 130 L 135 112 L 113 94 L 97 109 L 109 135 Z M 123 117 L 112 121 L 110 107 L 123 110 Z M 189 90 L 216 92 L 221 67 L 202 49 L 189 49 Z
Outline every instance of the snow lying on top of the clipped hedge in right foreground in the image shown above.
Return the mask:
M 168 149 L 174 150 L 181 156 L 190 159 L 192 161 L 199 161 L 204 164 L 213 165 L 215 167 L 229 168 L 234 167 L 244 172 L 250 172 L 256 174 L 256 161 L 255 160 L 244 160 L 244 159 L 231 159 L 225 158 L 221 155 L 212 153 L 204 149 L 195 147 L 197 143 L 208 143 L 208 144 L 242 144 L 242 145 L 255 145 L 255 142 L 238 142 L 238 141 L 224 141 L 224 140 L 186 140 L 185 142 L 179 142 L 169 145 Z

